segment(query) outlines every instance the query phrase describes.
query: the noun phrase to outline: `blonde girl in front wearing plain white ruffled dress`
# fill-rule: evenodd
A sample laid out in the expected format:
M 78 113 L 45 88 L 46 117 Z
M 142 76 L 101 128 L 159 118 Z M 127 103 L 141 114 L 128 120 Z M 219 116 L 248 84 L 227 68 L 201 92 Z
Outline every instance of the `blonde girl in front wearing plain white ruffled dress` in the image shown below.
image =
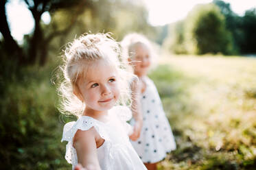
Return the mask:
M 119 56 L 110 34 L 80 36 L 65 50 L 58 91 L 60 111 L 78 117 L 65 124 L 62 135 L 73 169 L 146 169 L 128 138 L 132 73 Z

